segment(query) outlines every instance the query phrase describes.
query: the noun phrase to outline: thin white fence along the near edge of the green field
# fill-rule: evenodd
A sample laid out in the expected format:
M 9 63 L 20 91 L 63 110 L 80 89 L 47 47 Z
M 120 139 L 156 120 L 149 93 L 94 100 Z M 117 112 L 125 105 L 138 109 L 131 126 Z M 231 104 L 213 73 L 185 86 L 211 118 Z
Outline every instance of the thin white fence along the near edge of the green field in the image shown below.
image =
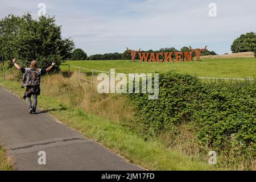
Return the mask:
M 71 65 L 68 65 L 68 71 L 70 72 L 70 67 L 72 68 L 78 68 L 79 69 L 79 80 L 85 80 L 85 81 L 89 81 L 91 83 L 93 83 L 93 76 L 94 76 L 94 72 L 100 72 L 100 73 L 108 73 L 109 76 L 110 74 L 115 74 L 115 75 L 125 75 L 125 76 L 133 76 L 133 79 L 135 79 L 135 77 L 143 77 L 143 75 L 136 75 L 133 73 L 133 75 L 131 74 L 125 74 L 125 73 L 113 73 L 113 72 L 106 72 L 106 71 L 98 71 L 98 70 L 95 70 L 95 69 L 88 69 L 88 68 L 82 68 L 82 67 L 75 67 L 75 66 L 71 66 Z M 88 71 L 92 71 L 92 78 L 91 80 L 87 80 L 85 78 L 81 78 L 81 69 L 85 69 L 85 70 L 88 70 Z M 198 77 L 199 79 L 214 79 L 214 80 L 254 80 L 254 78 L 214 78 L 214 77 Z

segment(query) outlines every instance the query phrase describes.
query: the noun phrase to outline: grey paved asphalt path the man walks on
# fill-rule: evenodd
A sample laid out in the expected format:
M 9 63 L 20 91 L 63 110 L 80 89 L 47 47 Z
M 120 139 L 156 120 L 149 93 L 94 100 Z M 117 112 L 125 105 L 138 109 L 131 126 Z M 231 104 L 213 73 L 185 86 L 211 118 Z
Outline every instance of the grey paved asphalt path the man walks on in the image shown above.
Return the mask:
M 27 103 L 1 87 L 0 143 L 18 170 L 141 170 L 47 113 L 28 114 Z

